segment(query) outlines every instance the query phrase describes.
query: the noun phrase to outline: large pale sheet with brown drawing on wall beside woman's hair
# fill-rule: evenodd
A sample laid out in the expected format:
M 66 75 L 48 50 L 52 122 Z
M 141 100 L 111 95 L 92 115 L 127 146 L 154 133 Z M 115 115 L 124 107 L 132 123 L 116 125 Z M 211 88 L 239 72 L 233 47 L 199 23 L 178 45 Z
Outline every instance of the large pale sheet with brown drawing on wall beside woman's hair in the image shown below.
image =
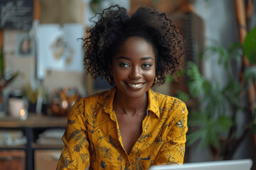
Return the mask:
M 83 72 L 83 38 L 81 24 L 41 24 L 37 31 L 37 77 L 46 70 Z

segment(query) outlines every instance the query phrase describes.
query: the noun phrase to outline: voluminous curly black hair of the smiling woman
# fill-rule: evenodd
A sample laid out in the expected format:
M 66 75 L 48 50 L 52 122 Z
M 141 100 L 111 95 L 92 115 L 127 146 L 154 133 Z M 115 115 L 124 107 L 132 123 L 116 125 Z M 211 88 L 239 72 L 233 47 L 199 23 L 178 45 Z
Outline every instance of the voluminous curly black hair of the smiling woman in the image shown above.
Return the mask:
M 97 77 L 110 77 L 112 57 L 119 46 L 132 36 L 139 36 L 151 43 L 156 55 L 156 84 L 164 84 L 166 75 L 181 70 L 184 49 L 183 38 L 166 13 L 153 8 L 140 7 L 128 16 L 126 8 L 118 5 L 97 13 L 98 21 L 87 30 L 84 65 L 87 72 Z

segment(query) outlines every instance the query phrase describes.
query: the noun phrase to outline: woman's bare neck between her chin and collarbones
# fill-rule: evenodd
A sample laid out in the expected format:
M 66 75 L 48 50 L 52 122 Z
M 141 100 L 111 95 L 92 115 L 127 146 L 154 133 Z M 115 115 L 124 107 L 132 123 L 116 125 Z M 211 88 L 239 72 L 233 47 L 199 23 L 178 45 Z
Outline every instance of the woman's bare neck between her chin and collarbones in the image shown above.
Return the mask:
M 126 115 L 146 114 L 148 107 L 147 93 L 139 98 L 129 98 L 124 96 L 121 91 L 116 91 L 113 101 L 115 113 Z

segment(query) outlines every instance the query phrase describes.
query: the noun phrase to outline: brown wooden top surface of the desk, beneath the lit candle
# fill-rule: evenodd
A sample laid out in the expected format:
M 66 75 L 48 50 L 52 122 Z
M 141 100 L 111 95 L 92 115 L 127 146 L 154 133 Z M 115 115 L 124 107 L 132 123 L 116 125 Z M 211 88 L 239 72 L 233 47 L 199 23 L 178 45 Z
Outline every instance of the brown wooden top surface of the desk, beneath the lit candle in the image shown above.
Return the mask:
M 66 117 L 37 115 L 36 113 L 28 113 L 27 120 L 11 118 L 10 115 L 0 118 L 0 128 L 66 127 L 67 123 L 68 118 Z

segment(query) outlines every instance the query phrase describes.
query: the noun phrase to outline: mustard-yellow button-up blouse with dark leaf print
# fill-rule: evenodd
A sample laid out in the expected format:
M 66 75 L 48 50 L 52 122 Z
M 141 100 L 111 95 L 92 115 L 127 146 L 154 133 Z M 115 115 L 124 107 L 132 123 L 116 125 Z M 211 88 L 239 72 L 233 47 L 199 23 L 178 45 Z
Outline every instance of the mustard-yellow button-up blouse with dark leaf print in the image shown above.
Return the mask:
M 187 115 L 179 99 L 148 91 L 142 135 L 128 155 L 112 103 L 116 89 L 82 98 L 70 111 L 57 169 L 149 169 L 183 164 Z

